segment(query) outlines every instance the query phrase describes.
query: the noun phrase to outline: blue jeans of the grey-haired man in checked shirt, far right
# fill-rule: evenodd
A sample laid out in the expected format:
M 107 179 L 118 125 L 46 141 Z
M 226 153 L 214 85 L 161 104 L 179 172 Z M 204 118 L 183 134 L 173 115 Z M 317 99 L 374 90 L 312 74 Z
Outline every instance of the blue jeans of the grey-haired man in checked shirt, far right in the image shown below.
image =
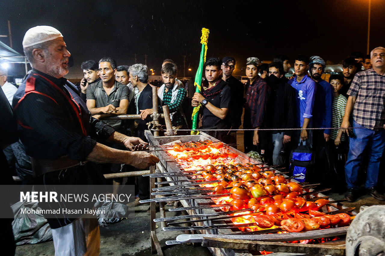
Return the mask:
M 372 188 L 377 185 L 380 158 L 385 148 L 385 130 L 373 131 L 362 127 L 353 121 L 353 133 L 356 138 L 350 136 L 349 153 L 345 164 L 345 178 L 347 188 L 358 188 L 357 175 L 359 165 L 362 162 L 363 150 L 368 146 L 369 163 L 365 188 Z

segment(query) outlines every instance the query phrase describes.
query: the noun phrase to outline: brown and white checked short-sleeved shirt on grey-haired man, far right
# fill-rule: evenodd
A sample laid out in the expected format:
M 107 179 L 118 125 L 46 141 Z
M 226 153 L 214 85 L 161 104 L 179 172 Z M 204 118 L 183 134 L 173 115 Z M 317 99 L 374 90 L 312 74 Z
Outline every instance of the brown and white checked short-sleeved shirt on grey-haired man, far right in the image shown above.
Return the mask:
M 353 120 L 371 129 L 385 123 L 385 75 L 378 75 L 373 68 L 358 72 L 347 95 L 357 97 L 353 108 Z

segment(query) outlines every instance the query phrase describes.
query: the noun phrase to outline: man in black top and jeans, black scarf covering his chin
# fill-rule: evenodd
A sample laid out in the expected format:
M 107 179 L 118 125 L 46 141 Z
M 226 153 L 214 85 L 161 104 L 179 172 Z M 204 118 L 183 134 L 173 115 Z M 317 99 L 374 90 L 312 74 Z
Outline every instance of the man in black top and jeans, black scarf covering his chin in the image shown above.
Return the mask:
M 270 96 L 266 108 L 266 128 L 291 129 L 295 119 L 295 90 L 286 83 L 283 65 L 280 62 L 269 64 L 268 85 Z M 284 165 L 285 145 L 290 144 L 291 130 L 271 131 L 270 145 L 273 147 L 273 165 Z

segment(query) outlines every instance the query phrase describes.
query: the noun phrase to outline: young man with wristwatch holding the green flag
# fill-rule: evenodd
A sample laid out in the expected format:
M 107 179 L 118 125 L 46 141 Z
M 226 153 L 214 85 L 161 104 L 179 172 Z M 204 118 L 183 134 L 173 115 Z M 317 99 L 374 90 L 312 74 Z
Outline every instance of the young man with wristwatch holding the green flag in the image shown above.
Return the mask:
M 191 105 L 201 104 L 202 126 L 204 130 L 228 129 L 228 111 L 230 105 L 230 87 L 222 80 L 222 61 L 219 58 L 208 58 L 204 63 L 206 81 L 202 86 L 202 94 L 194 93 Z M 228 143 L 228 131 L 207 131 L 207 134 Z

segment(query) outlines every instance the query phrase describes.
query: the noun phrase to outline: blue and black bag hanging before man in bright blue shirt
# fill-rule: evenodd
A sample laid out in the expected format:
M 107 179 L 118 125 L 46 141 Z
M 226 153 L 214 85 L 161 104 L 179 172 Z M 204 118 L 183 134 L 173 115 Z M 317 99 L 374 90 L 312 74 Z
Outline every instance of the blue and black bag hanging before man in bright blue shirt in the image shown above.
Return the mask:
M 309 146 L 301 145 L 290 154 L 290 170 L 293 170 L 293 176 L 296 181 L 304 182 L 306 178 L 306 168 L 315 164 L 315 153 Z

